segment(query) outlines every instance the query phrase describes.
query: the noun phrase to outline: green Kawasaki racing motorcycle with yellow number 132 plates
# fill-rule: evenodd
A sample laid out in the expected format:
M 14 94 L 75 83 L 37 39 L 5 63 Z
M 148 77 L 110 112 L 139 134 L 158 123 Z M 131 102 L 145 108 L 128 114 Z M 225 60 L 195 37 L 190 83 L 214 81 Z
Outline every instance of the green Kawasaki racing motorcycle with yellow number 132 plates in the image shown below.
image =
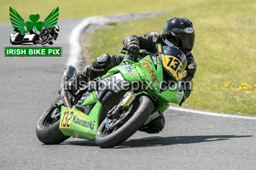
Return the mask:
M 94 83 L 84 84 L 76 94 L 61 88 L 60 97 L 38 121 L 38 139 L 60 144 L 73 136 L 95 139 L 102 148 L 113 147 L 160 116 L 168 103 L 179 104 L 184 95 L 179 82 L 186 76 L 186 56 L 178 48 L 160 44 L 157 48 L 158 54 L 126 54 L 120 65 Z M 76 69 L 68 66 L 61 84 L 75 74 Z

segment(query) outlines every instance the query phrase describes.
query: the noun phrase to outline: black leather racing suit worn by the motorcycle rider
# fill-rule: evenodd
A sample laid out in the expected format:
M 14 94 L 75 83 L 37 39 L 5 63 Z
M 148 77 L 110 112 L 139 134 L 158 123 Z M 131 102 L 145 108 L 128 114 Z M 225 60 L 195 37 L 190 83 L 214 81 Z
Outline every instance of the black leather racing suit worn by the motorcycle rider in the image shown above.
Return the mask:
M 145 49 L 150 53 L 156 53 L 157 49 L 155 44 L 161 43 L 162 45 L 166 45 L 163 41 L 162 33 L 151 32 L 143 35 L 142 37 L 137 36 L 127 36 L 125 37 L 123 44 L 126 48 L 129 48 L 131 44 L 136 44 L 141 49 Z M 88 65 L 84 71 L 80 73 L 81 77 L 85 79 L 85 81 L 89 81 L 89 79 L 93 79 L 96 77 L 101 77 L 106 74 L 111 68 L 116 65 L 119 65 L 124 59 L 124 55 L 118 54 L 102 54 L 96 61 L 92 63 L 92 65 Z M 183 78 L 183 81 L 191 81 L 195 75 L 196 70 L 196 62 L 193 55 L 190 53 L 187 55 L 188 65 L 186 67 L 187 76 Z M 186 83 L 189 86 L 189 83 Z M 190 95 L 190 88 L 185 87 L 185 98 L 187 99 Z

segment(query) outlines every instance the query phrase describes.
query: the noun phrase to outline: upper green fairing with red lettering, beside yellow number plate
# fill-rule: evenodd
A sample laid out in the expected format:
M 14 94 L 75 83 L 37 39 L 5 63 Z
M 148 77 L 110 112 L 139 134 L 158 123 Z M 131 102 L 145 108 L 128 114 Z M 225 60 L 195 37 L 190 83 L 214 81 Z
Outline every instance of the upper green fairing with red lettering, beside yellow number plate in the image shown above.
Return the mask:
M 160 57 L 156 57 L 157 65 L 156 68 L 154 66 L 154 61 L 150 55 L 146 56 L 143 59 L 140 59 L 139 62 L 134 63 L 134 61 L 131 61 L 129 59 L 125 59 L 126 62 L 130 62 L 131 65 L 118 65 L 113 67 L 108 73 L 102 77 L 101 79 L 104 79 L 106 77 L 112 76 L 114 73 L 121 72 L 121 74 L 125 77 L 125 80 L 128 82 L 145 82 L 148 81 L 148 84 L 150 84 L 150 88 L 152 90 L 147 90 L 146 92 L 143 92 L 145 94 L 149 94 L 151 97 L 157 99 L 158 107 L 155 111 L 160 111 L 160 113 L 164 112 L 166 108 L 168 107 L 168 103 L 175 103 L 179 104 L 181 100 L 183 99 L 183 92 L 177 92 L 177 89 L 179 88 L 177 82 L 172 86 L 172 88 L 168 88 L 163 92 L 160 92 L 160 83 L 163 81 L 163 66 L 162 62 L 160 61 Z M 127 66 L 131 67 L 131 71 L 128 72 Z M 131 75 L 134 73 L 134 75 Z M 147 87 L 147 83 L 143 83 L 144 87 Z

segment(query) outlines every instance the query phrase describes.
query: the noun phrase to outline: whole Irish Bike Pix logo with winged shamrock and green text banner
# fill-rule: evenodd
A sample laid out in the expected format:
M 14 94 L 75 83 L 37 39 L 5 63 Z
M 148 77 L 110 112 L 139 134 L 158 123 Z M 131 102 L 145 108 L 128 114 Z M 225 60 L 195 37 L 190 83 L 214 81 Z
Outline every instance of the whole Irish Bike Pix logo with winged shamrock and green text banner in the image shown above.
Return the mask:
M 6 57 L 61 57 L 61 47 L 52 47 L 59 36 L 59 7 L 39 21 L 39 14 L 30 14 L 25 21 L 15 8 L 9 7 L 9 19 L 14 31 L 9 35 L 13 46 L 5 47 Z

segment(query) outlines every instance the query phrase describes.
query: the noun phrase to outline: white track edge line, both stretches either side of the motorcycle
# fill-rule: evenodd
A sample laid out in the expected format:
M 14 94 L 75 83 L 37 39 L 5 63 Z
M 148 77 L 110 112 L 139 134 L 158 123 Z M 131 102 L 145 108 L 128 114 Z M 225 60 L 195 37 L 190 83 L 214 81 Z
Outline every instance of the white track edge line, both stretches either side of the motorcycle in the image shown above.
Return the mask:
M 69 58 L 67 59 L 67 65 L 74 65 L 78 67 L 79 64 L 79 58 L 82 57 L 83 48 L 81 47 L 79 43 L 79 36 L 83 33 L 84 29 L 86 29 L 88 26 L 90 26 L 90 23 L 96 22 L 96 20 L 102 19 L 106 22 L 108 22 L 108 18 L 104 18 L 104 16 L 93 16 L 85 18 L 78 26 L 73 28 L 73 31 L 71 32 L 71 35 L 69 37 L 69 44 L 70 44 L 70 53 Z M 222 117 L 229 117 L 229 118 L 239 118 L 239 119 L 249 119 L 249 120 L 256 120 L 256 117 L 252 116 L 236 116 L 236 115 L 229 115 L 224 113 L 215 113 L 215 112 L 207 112 L 207 111 L 197 111 L 192 109 L 187 109 L 183 107 L 177 107 L 177 106 L 169 106 L 170 110 L 172 111 L 183 111 L 183 112 L 189 112 L 189 113 L 195 113 L 195 114 L 201 114 L 201 115 L 207 115 L 207 116 L 222 116 Z

